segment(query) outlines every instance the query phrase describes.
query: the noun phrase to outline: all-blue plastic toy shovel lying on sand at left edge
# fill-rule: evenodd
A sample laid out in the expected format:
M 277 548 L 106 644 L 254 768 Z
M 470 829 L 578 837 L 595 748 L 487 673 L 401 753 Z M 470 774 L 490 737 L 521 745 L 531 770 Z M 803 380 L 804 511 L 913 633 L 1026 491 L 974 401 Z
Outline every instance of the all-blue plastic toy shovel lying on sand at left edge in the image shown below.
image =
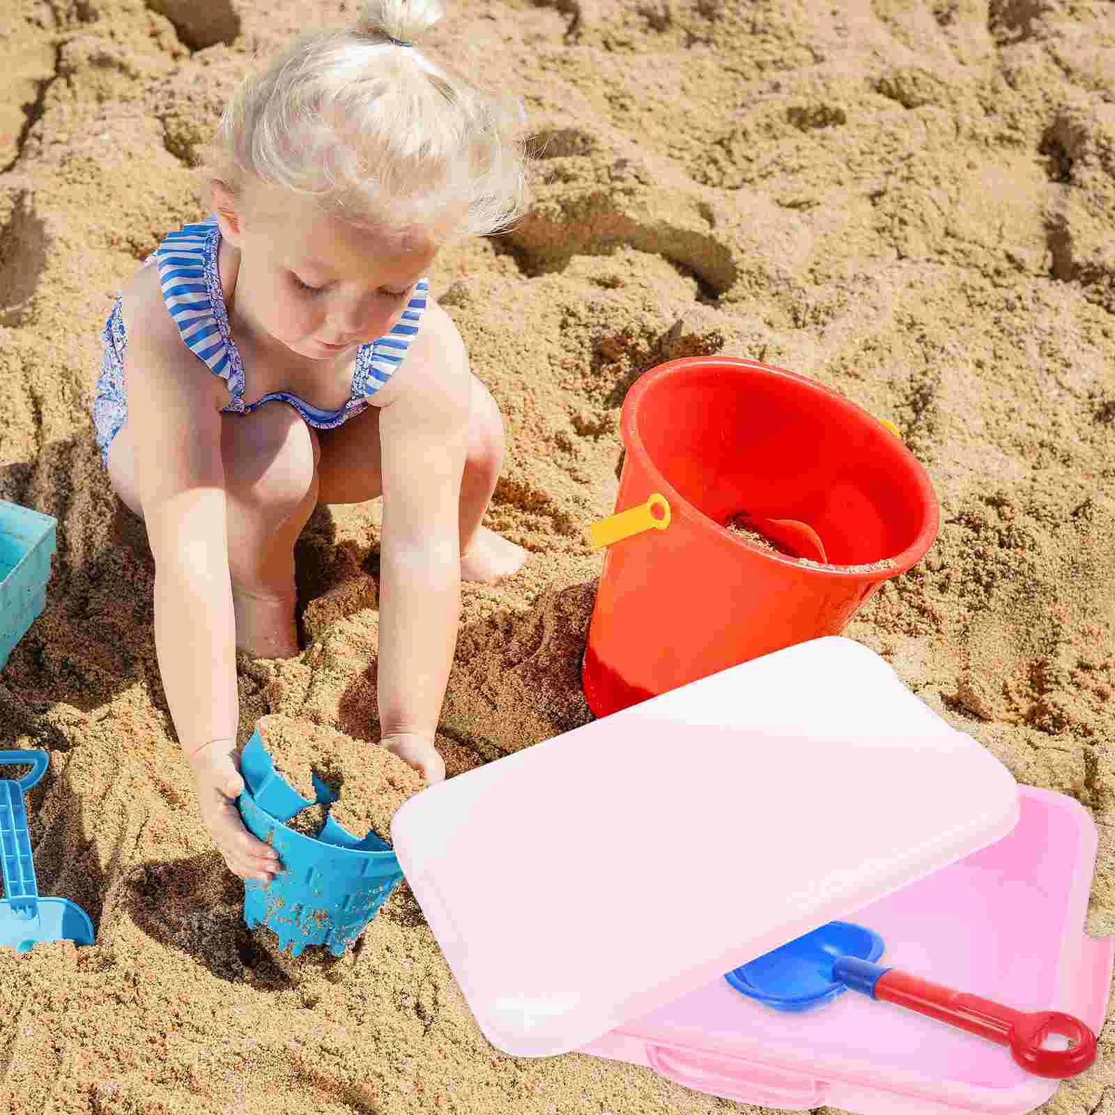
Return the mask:
M 30 952 L 41 941 L 94 942 L 89 915 L 69 899 L 40 899 L 35 881 L 23 794 L 42 777 L 49 763 L 43 750 L 0 752 L 0 766 L 31 766 L 31 773 L 18 782 L 0 779 L 4 892 L 0 900 L 0 946 L 18 952 Z

